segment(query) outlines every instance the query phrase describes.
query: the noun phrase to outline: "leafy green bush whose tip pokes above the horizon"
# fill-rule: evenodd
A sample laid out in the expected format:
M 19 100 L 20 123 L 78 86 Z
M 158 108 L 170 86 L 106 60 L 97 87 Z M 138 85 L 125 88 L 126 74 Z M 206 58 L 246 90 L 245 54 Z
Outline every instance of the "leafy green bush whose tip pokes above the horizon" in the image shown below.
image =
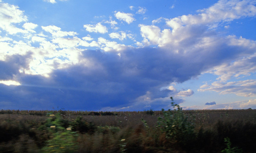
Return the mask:
M 162 109 L 163 116 L 158 118 L 157 126 L 165 137 L 174 143 L 188 144 L 188 141 L 194 137 L 194 126 L 188 120 L 188 116 L 183 113 L 178 104 L 174 104 L 171 97 L 171 105 L 174 108 L 165 111 Z

